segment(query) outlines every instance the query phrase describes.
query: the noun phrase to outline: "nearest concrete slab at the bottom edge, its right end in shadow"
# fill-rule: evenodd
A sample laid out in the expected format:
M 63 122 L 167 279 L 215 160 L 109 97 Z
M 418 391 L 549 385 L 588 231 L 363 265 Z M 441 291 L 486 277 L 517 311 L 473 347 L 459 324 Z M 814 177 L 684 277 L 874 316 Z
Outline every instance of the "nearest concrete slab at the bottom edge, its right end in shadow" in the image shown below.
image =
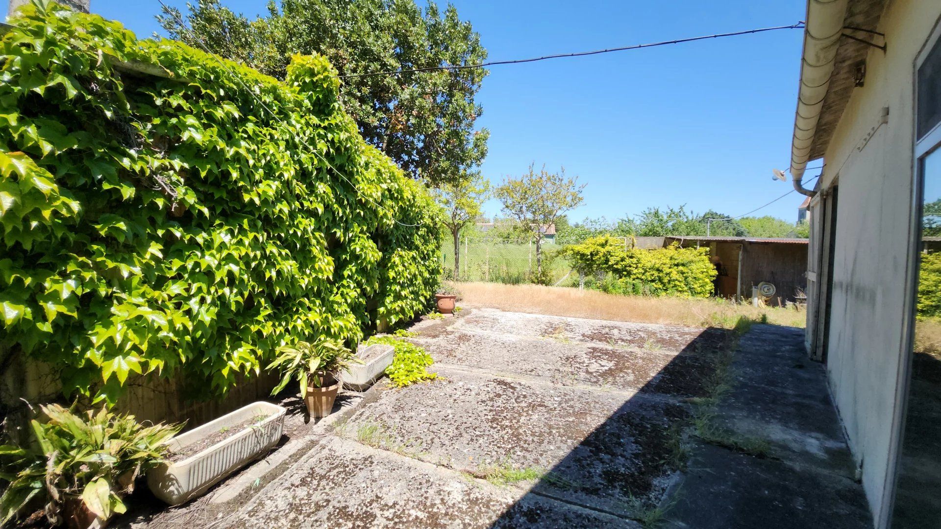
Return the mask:
M 228 527 L 637 527 L 336 437 L 316 443 Z

